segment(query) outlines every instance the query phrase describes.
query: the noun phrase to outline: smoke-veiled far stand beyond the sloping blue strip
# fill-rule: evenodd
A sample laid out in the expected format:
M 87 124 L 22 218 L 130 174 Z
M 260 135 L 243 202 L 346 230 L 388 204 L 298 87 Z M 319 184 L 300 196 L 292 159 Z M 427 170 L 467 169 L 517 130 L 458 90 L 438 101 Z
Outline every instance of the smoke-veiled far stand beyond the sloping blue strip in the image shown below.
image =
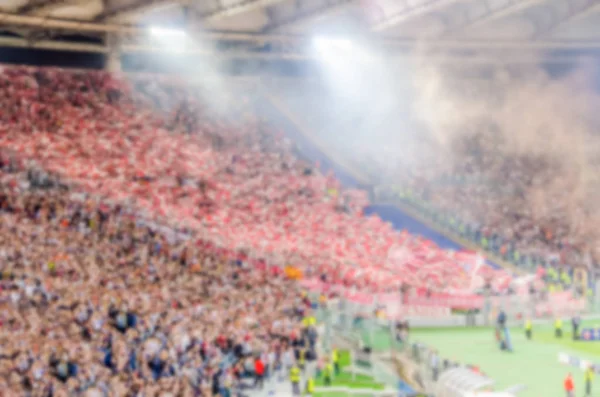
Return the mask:
M 583 222 L 583 209 L 576 211 L 578 221 L 573 221 L 574 204 L 567 199 L 566 185 L 554 188 L 560 183 L 552 182 L 560 164 L 538 154 L 497 153 L 493 137 L 485 134 L 471 141 L 462 137 L 471 142 L 470 146 L 453 143 L 452 158 L 448 159 L 433 142 L 428 142 L 426 134 L 411 131 L 414 126 L 403 129 L 406 122 L 398 120 L 402 115 L 384 112 L 386 120 L 394 121 L 393 128 L 371 126 L 369 122 L 381 117 L 370 117 L 367 112 L 360 119 L 353 118 L 350 108 L 355 109 L 352 106 L 356 104 L 336 100 L 318 80 L 303 82 L 302 87 L 295 84 L 278 84 L 271 90 L 291 112 L 311 115 L 303 120 L 307 128 L 326 140 L 326 151 L 342 157 L 346 168 L 361 170 L 376 185 L 375 201 L 402 203 L 446 234 L 476 245 L 500 261 L 530 272 L 548 269 L 546 280 L 554 290 L 575 281 L 578 292 L 583 293 L 580 287 L 587 283 L 587 277 L 573 272 L 573 268 L 597 267 L 595 250 L 589 243 L 593 232 Z M 350 108 L 340 110 L 344 103 Z M 363 134 L 364 130 L 370 133 Z M 546 203 L 548 199 L 540 190 L 540 186 L 548 185 L 557 192 L 551 200 L 554 204 Z M 544 204 L 534 204 L 534 198 Z M 381 206 L 375 211 L 389 213 L 397 209 Z M 395 213 L 386 219 L 421 235 L 429 233 L 438 245 L 444 245 L 444 237 L 404 218 Z M 577 230 L 574 224 L 580 225 Z

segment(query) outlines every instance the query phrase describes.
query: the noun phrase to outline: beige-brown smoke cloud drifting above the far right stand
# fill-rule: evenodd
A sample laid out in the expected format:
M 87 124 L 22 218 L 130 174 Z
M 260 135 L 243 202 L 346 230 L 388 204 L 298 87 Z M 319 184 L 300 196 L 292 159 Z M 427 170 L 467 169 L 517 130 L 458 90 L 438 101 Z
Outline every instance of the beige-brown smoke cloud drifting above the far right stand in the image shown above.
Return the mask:
M 518 159 L 520 178 L 504 183 L 526 189 L 523 210 L 595 245 L 600 96 L 593 64 L 560 78 L 541 67 L 494 69 L 492 78 L 478 80 L 451 76 L 443 65 L 421 69 L 414 80 L 415 122 L 427 126 L 439 147 L 451 148 L 450 169 L 467 155 L 454 150 L 457 142 L 477 141 L 488 158 Z M 487 166 L 494 171 L 493 162 Z

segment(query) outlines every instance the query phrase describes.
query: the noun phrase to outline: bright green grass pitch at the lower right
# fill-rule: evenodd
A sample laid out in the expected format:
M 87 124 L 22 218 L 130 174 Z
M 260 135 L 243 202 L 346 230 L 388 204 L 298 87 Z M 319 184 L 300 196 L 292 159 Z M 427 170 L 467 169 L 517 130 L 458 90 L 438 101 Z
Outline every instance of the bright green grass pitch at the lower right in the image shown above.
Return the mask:
M 583 327 L 600 327 L 600 323 L 584 323 Z M 512 328 L 512 353 L 499 350 L 492 328 L 413 329 L 411 341 L 436 348 L 444 358 L 478 365 L 496 381 L 496 390 L 525 385 L 527 389 L 520 392 L 519 397 L 563 396 L 563 379 L 572 372 L 576 395 L 583 396 L 583 371 L 560 364 L 558 354 L 567 353 L 600 363 L 600 341 L 573 341 L 567 322 L 563 330 L 567 331 L 563 338 L 556 339 L 550 324 L 537 325 L 533 328 L 533 340 L 528 341 L 521 328 Z M 374 350 L 389 348 L 389 333 L 382 330 L 374 336 Z M 594 380 L 592 391 L 592 396 L 600 396 L 600 377 Z

